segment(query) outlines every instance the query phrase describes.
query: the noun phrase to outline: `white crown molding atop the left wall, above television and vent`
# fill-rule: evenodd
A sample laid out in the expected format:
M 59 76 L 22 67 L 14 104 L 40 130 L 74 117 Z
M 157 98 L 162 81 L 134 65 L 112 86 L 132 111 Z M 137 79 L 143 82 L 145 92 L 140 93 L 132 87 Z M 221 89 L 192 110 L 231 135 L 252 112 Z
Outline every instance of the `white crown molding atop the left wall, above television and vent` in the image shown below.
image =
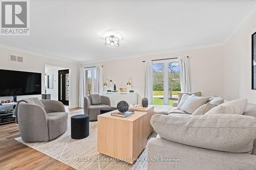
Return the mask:
M 28 54 L 32 54 L 32 55 L 36 55 L 36 56 L 40 56 L 40 57 L 50 58 L 50 59 L 54 59 L 54 60 L 58 60 L 58 61 L 65 61 L 65 62 L 69 62 L 69 63 L 73 63 L 73 64 L 79 64 L 79 62 L 75 62 L 75 61 L 72 61 L 72 60 L 62 59 L 62 58 L 59 58 L 59 57 L 56 57 L 56 56 L 50 56 L 50 55 L 46 55 L 46 54 L 41 54 L 41 53 L 29 51 L 29 50 L 23 50 L 21 48 L 16 48 L 14 46 L 0 44 L 0 47 L 7 48 L 9 50 L 14 50 L 14 51 L 17 51 L 17 52 L 28 53 Z

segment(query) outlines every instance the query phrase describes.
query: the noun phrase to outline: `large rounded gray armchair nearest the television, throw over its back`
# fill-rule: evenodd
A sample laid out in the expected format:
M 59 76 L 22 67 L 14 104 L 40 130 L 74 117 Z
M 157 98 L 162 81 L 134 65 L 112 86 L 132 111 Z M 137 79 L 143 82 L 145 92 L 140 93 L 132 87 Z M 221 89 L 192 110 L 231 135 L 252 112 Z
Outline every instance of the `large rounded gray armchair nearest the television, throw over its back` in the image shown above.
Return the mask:
M 52 140 L 67 130 L 68 113 L 61 102 L 41 100 L 39 105 L 20 102 L 18 105 L 18 127 L 25 142 Z

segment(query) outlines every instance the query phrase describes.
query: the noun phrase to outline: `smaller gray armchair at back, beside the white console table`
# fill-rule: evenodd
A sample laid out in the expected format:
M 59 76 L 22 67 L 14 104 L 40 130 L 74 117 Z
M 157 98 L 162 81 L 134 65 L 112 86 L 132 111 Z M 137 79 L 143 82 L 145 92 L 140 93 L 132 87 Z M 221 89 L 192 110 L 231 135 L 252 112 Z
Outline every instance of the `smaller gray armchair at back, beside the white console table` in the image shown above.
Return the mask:
M 92 103 L 91 95 L 84 97 L 83 112 L 84 112 L 84 114 L 89 115 L 90 121 L 97 120 L 97 116 L 100 114 L 100 109 L 111 108 L 109 97 L 100 95 L 100 98 L 101 98 L 101 102 L 100 102 L 101 104 L 94 105 Z

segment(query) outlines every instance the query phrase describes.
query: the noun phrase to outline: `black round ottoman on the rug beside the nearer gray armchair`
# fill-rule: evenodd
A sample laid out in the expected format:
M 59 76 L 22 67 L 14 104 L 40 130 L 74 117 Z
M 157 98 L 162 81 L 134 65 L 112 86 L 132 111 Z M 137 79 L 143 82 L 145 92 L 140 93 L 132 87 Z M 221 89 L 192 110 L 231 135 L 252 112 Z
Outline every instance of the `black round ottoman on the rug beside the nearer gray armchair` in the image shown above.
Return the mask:
M 71 138 L 83 139 L 89 136 L 89 115 L 78 114 L 71 117 Z

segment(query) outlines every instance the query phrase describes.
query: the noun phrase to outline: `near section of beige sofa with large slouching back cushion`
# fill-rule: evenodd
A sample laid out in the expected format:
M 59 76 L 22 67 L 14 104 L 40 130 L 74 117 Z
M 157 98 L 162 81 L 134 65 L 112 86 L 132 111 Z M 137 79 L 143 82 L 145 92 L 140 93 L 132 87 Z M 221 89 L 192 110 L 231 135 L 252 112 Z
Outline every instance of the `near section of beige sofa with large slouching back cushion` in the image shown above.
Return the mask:
M 167 114 L 151 119 L 158 137 L 147 143 L 148 170 L 256 169 L 256 105 L 243 115 Z

